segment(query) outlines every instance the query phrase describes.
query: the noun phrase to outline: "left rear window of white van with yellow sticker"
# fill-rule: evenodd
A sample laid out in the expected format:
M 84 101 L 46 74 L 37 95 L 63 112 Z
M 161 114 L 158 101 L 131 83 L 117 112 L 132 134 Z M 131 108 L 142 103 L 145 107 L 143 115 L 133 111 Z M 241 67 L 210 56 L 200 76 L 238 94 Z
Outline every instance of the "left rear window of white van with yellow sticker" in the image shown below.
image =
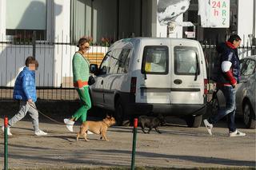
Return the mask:
M 142 58 L 142 73 L 167 74 L 168 58 L 167 46 L 145 46 Z

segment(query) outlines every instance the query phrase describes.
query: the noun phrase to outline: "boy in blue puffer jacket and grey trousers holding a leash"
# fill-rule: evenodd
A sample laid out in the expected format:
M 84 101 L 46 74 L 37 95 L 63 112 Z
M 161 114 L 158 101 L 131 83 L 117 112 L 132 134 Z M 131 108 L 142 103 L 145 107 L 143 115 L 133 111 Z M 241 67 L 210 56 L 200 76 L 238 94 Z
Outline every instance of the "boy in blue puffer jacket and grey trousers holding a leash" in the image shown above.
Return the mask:
M 36 136 L 45 136 L 46 132 L 39 129 L 38 110 L 34 102 L 37 101 L 37 92 L 35 86 L 35 70 L 38 69 L 38 61 L 34 57 L 26 58 L 26 66 L 18 77 L 14 85 L 14 100 L 20 101 L 19 111 L 8 121 L 7 134 L 12 136 L 10 127 L 30 113 L 32 123 L 34 125 L 34 134 Z M 2 131 L 4 127 L 2 126 Z

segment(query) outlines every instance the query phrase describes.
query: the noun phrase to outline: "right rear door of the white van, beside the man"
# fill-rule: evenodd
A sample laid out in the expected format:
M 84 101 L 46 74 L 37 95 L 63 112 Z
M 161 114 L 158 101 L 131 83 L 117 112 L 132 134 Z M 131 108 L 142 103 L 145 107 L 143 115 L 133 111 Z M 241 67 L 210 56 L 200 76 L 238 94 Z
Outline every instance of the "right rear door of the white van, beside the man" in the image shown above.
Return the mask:
M 186 43 L 173 44 L 171 50 L 171 100 L 173 104 L 203 104 L 204 61 L 201 51 Z

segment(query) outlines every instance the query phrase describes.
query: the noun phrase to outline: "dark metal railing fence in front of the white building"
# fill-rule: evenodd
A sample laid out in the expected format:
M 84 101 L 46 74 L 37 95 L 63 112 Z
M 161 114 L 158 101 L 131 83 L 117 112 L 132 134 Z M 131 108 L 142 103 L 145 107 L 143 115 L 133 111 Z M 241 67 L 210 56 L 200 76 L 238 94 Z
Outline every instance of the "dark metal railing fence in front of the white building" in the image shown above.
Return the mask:
M 24 67 L 26 57 L 33 55 L 39 62 L 36 72 L 38 100 L 55 101 L 78 99 L 73 88 L 72 57 L 78 48 L 75 43 L 67 43 L 60 38 L 55 42 L 32 41 L 19 39 L 0 42 L 0 101 L 12 100 L 14 81 Z M 31 42 L 30 42 L 31 40 Z M 110 45 L 110 44 L 108 44 Z M 216 56 L 214 43 L 202 43 L 206 57 L 208 77 Z M 87 55 L 92 63 L 99 63 L 107 52 L 107 46 L 91 45 Z M 255 45 L 242 45 L 240 57 L 256 54 Z

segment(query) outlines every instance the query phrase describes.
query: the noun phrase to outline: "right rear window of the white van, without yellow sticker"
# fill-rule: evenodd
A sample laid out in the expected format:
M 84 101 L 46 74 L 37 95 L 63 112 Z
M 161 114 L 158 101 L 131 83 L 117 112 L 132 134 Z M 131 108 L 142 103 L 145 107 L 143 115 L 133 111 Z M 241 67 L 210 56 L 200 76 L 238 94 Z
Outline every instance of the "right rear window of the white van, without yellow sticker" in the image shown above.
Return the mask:
M 198 50 L 194 47 L 174 47 L 174 73 L 178 75 L 200 74 Z

